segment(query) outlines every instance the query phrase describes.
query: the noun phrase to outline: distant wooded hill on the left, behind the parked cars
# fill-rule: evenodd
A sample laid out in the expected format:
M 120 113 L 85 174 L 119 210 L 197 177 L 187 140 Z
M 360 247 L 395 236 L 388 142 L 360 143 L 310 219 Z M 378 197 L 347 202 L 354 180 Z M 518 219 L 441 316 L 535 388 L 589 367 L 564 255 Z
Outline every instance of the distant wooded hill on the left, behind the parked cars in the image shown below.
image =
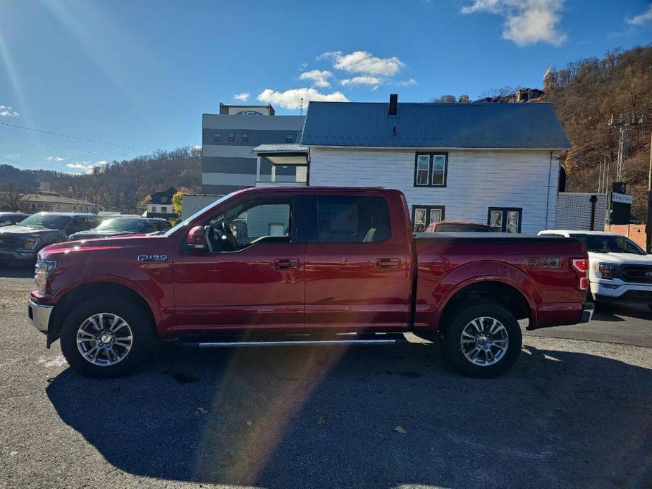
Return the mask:
M 40 182 L 68 197 L 97 202 L 106 208 L 136 207 L 153 192 L 169 187 L 199 192 L 202 182 L 202 151 L 190 147 L 156 151 L 147 156 L 113 161 L 93 168 L 88 175 L 43 170 L 19 170 L 0 165 L 0 190 L 34 191 Z

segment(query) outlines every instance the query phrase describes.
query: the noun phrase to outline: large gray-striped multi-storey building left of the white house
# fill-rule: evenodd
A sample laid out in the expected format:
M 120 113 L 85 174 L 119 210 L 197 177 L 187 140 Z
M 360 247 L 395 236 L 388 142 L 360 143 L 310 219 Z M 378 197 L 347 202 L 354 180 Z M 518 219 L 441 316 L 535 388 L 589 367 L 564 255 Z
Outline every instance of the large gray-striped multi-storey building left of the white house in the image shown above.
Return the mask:
M 276 116 L 272 106 L 224 105 L 219 114 L 202 116 L 202 193 L 224 195 L 257 181 L 295 175 L 293 166 L 276 167 L 263 161 L 258 169 L 260 144 L 295 144 L 301 140 L 305 117 Z M 185 199 L 184 199 L 185 200 Z M 184 211 L 185 214 L 185 211 Z

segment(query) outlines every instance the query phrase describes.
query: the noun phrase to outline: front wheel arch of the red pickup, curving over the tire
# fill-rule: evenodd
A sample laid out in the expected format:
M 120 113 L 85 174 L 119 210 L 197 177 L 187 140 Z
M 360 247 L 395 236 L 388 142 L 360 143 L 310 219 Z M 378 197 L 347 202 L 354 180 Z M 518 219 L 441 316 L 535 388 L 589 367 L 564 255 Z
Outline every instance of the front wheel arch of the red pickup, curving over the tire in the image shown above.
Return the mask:
M 59 338 L 63 321 L 68 316 L 68 313 L 74 304 L 88 299 L 89 297 L 97 297 L 99 295 L 121 297 L 133 304 L 137 304 L 137 306 L 149 316 L 152 326 L 156 328 L 156 309 L 149 304 L 143 295 L 127 285 L 106 280 L 97 280 L 71 287 L 70 290 L 67 290 L 56 302 L 49 321 L 47 346 L 50 347 L 50 345 Z M 154 333 L 156 333 L 156 330 L 154 330 Z

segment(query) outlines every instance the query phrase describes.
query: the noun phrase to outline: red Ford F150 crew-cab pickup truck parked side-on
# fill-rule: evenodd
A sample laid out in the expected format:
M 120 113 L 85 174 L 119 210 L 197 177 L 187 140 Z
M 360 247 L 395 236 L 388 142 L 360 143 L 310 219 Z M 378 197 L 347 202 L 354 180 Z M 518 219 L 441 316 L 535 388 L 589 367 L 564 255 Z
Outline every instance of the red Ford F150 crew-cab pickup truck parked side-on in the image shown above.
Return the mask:
M 86 376 L 130 371 L 156 338 L 199 347 L 441 339 L 493 377 L 527 328 L 589 321 L 577 240 L 412 234 L 397 190 L 257 187 L 161 234 L 52 244 L 29 300 L 47 346 Z

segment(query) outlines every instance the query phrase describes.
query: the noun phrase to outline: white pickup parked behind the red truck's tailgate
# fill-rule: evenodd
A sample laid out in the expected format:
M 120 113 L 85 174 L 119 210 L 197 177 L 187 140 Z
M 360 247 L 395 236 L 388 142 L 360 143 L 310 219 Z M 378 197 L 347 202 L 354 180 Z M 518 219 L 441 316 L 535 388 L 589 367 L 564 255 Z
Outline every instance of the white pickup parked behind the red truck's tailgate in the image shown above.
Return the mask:
M 549 229 L 540 236 L 574 237 L 589 252 L 589 282 L 596 301 L 647 304 L 652 310 L 652 255 L 628 237 L 601 231 Z

